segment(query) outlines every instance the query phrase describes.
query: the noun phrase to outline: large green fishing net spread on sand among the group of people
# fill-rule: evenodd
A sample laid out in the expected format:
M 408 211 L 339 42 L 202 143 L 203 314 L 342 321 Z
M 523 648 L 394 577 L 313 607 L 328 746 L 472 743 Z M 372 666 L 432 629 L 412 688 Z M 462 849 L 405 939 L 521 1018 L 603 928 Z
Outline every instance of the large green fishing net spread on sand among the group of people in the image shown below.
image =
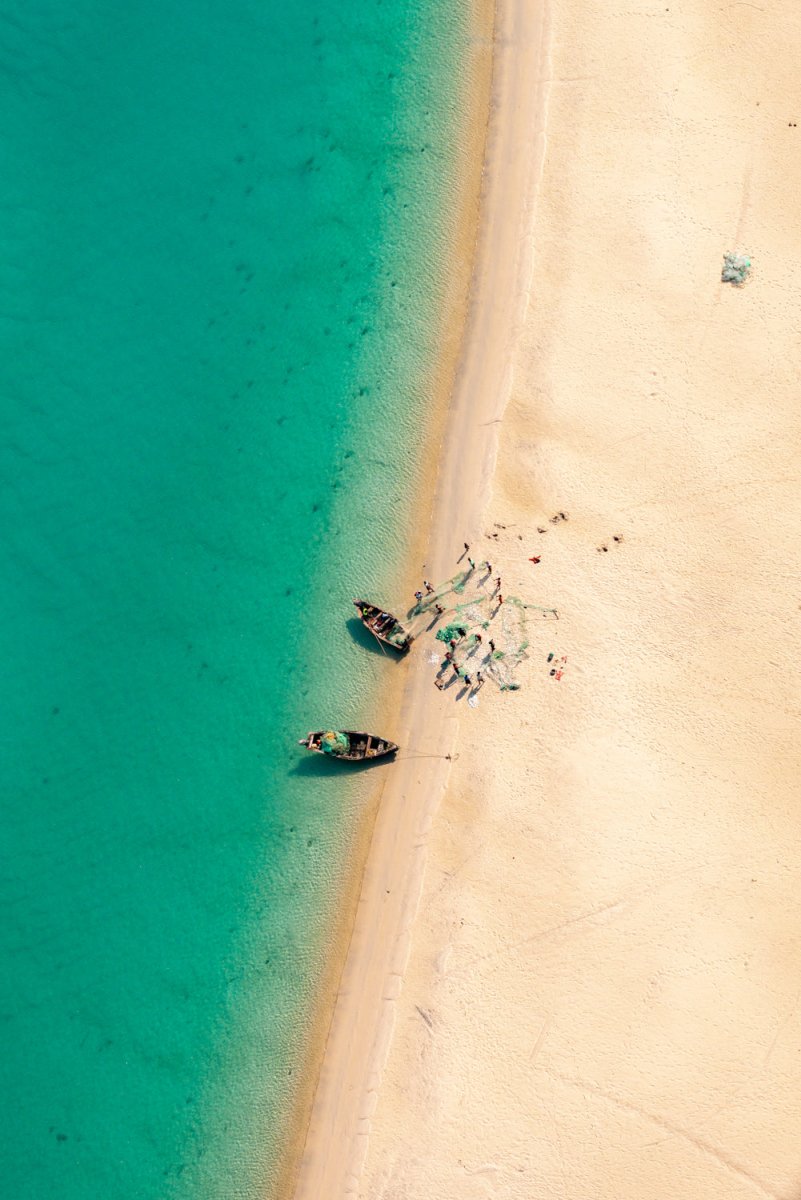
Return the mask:
M 559 613 L 555 608 L 524 604 L 517 596 L 505 596 L 499 607 L 498 598 L 489 592 L 489 583 L 490 575 L 481 566 L 459 571 L 410 608 L 406 623 L 410 631 L 417 635 L 426 618 L 434 618 L 427 630 L 433 629 L 438 619 L 445 620 L 436 640 L 457 642 L 454 661 L 462 678 L 469 676 L 475 679 L 476 672 L 481 671 L 501 691 L 517 691 L 520 685 L 516 671 L 526 658 L 530 622 L 536 619 L 535 613 L 540 619 L 550 620 L 558 620 Z M 445 612 L 438 613 L 436 605 Z M 489 648 L 490 641 L 494 642 L 494 650 Z

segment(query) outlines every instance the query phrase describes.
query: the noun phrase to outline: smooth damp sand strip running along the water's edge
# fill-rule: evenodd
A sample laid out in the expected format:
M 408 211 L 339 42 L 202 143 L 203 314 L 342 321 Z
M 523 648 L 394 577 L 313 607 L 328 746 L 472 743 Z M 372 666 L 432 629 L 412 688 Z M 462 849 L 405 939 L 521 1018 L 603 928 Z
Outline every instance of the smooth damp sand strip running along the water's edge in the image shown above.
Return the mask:
M 544 157 L 547 6 L 534 13 L 498 0 L 492 8 L 477 236 L 460 349 L 453 364 L 442 355 L 451 367 L 441 379 L 450 404 L 430 515 L 422 522 L 428 530 L 424 566 L 434 577 L 451 569 L 460 539 L 477 536 L 489 502 L 498 424 L 512 383 L 506 365 L 528 306 L 536 185 Z M 442 374 L 445 364 L 438 364 Z M 398 762 L 381 786 L 311 1116 L 299 1130 L 305 1134 L 302 1150 L 299 1138 L 299 1153 L 288 1164 L 282 1194 L 294 1200 L 359 1194 L 422 888 L 428 829 L 456 751 L 458 721 L 436 710 L 424 664 L 412 659 L 404 674 L 397 726 L 416 756 Z M 336 967 L 329 978 L 336 978 Z

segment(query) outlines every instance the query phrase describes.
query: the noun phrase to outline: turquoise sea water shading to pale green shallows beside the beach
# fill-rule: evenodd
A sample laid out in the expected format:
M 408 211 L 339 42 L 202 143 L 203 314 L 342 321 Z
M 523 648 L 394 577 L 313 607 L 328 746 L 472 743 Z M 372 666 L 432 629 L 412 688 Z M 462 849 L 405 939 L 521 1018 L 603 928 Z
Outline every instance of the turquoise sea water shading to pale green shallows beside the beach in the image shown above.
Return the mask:
M 362 796 L 295 742 L 369 725 L 350 598 L 416 586 L 465 37 L 445 0 L 0 14 L 14 1200 L 275 1181 Z

